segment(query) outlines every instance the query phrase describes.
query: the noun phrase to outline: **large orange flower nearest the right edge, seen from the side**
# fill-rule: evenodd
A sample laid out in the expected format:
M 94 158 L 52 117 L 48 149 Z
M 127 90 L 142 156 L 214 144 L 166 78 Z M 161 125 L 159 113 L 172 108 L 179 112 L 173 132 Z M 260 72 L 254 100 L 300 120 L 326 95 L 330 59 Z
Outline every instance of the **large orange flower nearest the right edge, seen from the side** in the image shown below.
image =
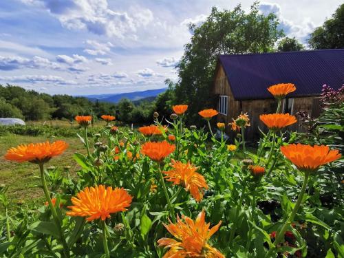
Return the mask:
M 338 160 L 341 158 L 339 151 L 330 150 L 325 145 L 289 144 L 281 147 L 281 152 L 288 158 L 300 171 L 314 172 L 319 166 Z

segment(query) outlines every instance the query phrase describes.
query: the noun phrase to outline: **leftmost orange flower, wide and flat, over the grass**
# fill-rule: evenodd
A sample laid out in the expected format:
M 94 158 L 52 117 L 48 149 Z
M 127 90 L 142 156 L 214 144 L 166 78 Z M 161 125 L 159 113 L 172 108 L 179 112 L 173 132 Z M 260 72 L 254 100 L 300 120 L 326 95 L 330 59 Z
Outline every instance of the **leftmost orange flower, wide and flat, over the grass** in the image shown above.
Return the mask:
M 14 160 L 17 162 L 32 162 L 45 163 L 52 157 L 60 155 L 67 149 L 68 144 L 62 140 L 56 142 L 41 142 L 23 144 L 17 147 L 8 149 L 5 158 L 6 160 Z

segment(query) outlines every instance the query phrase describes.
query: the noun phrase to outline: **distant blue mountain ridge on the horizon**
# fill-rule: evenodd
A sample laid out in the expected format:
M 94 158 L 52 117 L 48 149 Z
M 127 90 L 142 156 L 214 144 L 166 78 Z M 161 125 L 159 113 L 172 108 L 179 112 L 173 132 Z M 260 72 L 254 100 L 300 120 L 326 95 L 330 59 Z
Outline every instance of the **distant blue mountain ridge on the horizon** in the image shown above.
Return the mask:
M 131 101 L 138 101 L 147 98 L 147 100 L 151 100 L 158 96 L 160 93 L 165 92 L 166 88 L 163 89 L 148 89 L 144 92 L 127 92 L 127 93 L 120 93 L 120 94 L 102 94 L 102 95 L 87 95 L 83 96 L 88 98 L 91 101 L 103 101 L 109 103 L 118 103 L 122 98 L 128 98 Z M 151 98 L 153 97 L 153 98 Z

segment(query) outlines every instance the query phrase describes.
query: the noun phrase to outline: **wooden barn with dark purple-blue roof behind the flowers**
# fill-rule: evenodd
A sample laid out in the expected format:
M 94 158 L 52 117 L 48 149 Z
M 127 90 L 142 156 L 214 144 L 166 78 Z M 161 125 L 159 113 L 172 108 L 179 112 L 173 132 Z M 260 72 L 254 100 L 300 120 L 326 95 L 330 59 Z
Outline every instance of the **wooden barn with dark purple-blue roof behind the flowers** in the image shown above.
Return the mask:
M 247 112 L 251 126 L 246 138 L 255 140 L 259 137 L 258 127 L 266 131 L 259 115 L 277 109 L 277 101 L 267 90 L 277 83 L 294 83 L 297 87 L 284 100 L 285 113 L 308 111 L 312 117 L 319 116 L 323 85 L 338 89 L 344 84 L 344 50 L 219 56 L 213 84 L 218 122 L 232 122 L 241 111 Z M 290 129 L 299 131 L 301 127 L 294 125 Z

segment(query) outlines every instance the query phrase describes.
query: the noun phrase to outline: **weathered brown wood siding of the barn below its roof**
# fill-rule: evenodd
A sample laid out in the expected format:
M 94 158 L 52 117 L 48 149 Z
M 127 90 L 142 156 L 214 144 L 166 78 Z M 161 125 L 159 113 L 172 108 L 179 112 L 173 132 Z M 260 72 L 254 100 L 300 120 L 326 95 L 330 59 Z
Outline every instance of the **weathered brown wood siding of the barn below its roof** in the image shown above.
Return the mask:
M 246 139 L 251 141 L 259 138 L 260 132 L 258 127 L 262 129 L 262 131 L 267 131 L 266 126 L 259 120 L 259 115 L 272 114 L 275 113 L 277 109 L 277 100 L 275 99 L 235 100 L 230 90 L 230 85 L 228 83 L 228 79 L 224 72 L 224 69 L 222 68 L 222 65 L 220 65 L 217 69 L 213 87 L 213 94 L 215 94 L 215 96 L 228 96 L 228 115 L 224 116 L 222 114 L 219 114 L 217 116 L 217 122 L 225 122 L 226 124 L 228 124 L 229 122 L 232 122 L 233 118 L 237 118 L 241 111 L 243 111 L 244 113 L 248 113 L 251 126 L 246 129 L 245 135 Z M 313 103 L 314 105 L 318 103 L 316 97 L 294 98 L 292 114 L 296 115 L 298 111 L 307 111 L 312 116 L 316 116 L 317 114 L 315 113 L 318 112 L 318 110 L 314 109 Z M 216 106 L 215 109 L 217 108 L 218 107 Z M 289 127 L 289 129 L 292 131 L 302 131 L 299 122 L 296 125 Z M 230 136 L 233 136 L 233 132 L 230 131 L 229 127 L 227 127 L 226 132 Z

